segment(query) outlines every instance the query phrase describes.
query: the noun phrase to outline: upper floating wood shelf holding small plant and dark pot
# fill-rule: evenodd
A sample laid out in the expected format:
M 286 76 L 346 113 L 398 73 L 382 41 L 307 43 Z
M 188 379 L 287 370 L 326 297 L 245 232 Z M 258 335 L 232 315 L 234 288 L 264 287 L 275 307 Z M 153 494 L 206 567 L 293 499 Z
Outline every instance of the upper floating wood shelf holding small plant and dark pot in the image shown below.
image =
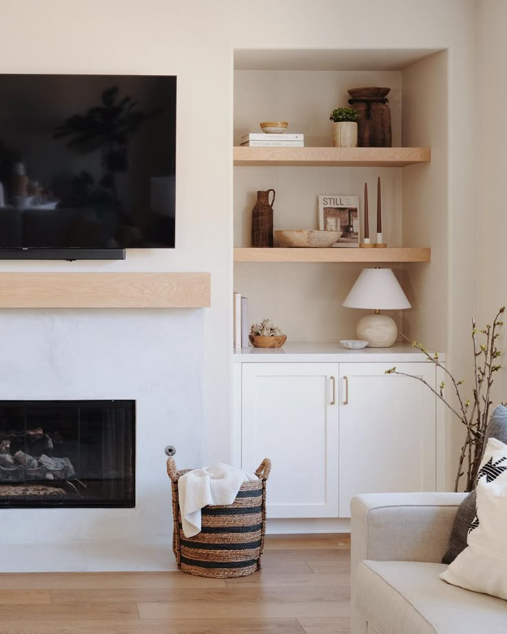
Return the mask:
M 234 165 L 404 167 L 431 161 L 430 147 L 234 147 Z

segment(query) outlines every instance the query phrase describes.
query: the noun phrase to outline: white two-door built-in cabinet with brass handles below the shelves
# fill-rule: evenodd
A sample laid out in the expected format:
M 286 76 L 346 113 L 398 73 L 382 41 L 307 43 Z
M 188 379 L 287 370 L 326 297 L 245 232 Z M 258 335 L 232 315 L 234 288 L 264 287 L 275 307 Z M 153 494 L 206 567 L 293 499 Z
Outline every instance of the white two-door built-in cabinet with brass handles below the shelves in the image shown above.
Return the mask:
M 385 374 L 396 366 L 435 387 L 421 354 L 280 356 L 254 353 L 235 372 L 236 462 L 251 471 L 271 458 L 269 518 L 348 518 L 358 493 L 437 490 L 437 399 L 414 378 Z

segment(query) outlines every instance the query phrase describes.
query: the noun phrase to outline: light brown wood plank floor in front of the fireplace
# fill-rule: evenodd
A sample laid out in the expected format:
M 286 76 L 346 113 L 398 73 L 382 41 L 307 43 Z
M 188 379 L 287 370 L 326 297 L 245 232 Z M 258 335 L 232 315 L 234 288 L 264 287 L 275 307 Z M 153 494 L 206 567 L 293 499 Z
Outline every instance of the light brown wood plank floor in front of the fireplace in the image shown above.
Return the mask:
M 348 535 L 271 535 L 262 572 L 238 579 L 0 574 L 0 632 L 349 634 L 349 597 Z

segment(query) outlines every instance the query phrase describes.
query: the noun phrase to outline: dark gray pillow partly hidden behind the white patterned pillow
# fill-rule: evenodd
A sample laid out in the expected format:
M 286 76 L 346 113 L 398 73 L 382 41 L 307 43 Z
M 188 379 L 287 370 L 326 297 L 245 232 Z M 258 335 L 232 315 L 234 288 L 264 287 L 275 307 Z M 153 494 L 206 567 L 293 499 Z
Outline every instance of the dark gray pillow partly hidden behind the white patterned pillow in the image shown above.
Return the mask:
M 507 408 L 499 405 L 491 414 L 486 442 L 489 438 L 496 438 L 507 444 Z M 486 445 L 485 445 L 486 446 Z M 475 519 L 475 491 L 469 493 L 457 509 L 454 520 L 449 549 L 442 558 L 442 564 L 451 564 L 457 555 L 466 549 L 468 529 Z

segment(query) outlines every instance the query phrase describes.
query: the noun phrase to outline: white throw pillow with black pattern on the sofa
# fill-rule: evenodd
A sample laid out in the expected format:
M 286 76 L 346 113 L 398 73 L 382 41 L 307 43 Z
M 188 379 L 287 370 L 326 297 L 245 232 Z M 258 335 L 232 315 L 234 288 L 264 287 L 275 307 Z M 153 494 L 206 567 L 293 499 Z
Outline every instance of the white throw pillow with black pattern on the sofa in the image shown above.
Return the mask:
M 477 475 L 477 516 L 468 546 L 444 581 L 507 600 L 507 444 L 490 438 Z

